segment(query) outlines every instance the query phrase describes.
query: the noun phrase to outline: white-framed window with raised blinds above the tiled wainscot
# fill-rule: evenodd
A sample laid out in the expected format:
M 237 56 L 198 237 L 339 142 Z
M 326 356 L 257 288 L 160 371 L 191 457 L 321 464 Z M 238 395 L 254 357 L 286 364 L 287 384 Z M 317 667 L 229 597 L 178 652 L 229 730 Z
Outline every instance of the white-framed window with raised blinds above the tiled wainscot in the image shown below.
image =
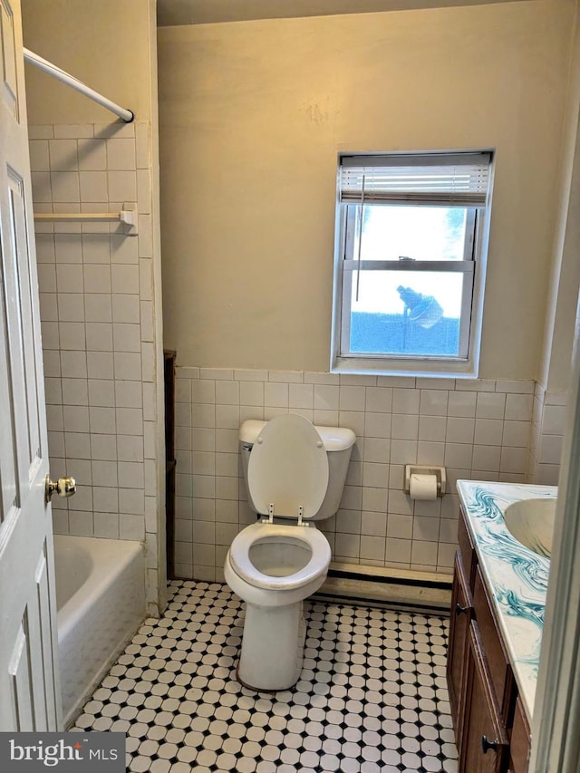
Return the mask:
M 334 372 L 477 375 L 491 153 L 343 156 Z

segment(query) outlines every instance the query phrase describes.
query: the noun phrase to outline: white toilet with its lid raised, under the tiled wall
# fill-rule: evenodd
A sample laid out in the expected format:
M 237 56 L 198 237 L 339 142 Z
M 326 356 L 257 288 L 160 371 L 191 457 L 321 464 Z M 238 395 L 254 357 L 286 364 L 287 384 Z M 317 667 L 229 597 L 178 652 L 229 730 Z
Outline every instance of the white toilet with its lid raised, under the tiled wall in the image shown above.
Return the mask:
M 314 521 L 334 515 L 356 440 L 293 413 L 240 427 L 248 502 L 260 519 L 230 546 L 224 575 L 246 602 L 238 680 L 287 690 L 302 671 L 303 602 L 324 583 L 331 549 Z

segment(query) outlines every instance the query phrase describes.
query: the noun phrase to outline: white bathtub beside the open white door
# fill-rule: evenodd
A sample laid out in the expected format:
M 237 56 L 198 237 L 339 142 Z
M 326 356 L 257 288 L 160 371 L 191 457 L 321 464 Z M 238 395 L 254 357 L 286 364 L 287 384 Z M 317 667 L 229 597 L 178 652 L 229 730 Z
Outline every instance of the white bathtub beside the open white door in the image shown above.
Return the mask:
M 140 542 L 54 536 L 64 727 L 145 617 Z

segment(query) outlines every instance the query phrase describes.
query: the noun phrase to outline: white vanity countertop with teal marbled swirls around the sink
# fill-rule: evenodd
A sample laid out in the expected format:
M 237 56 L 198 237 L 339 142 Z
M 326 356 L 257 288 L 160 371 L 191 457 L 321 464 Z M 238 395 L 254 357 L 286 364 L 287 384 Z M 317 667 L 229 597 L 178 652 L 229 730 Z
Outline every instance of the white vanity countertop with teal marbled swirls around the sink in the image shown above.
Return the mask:
M 458 480 L 457 488 L 517 688 L 531 720 L 550 561 L 511 536 L 504 512 L 519 499 L 556 498 L 557 487 Z

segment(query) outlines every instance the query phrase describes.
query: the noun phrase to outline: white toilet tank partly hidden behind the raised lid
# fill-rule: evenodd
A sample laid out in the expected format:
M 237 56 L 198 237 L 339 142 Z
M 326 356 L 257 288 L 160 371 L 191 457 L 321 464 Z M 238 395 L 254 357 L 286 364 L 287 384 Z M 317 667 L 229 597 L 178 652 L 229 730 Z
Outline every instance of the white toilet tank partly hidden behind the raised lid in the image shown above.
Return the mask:
M 266 424 L 267 421 L 248 419 L 239 428 L 239 445 L 242 454 L 242 469 L 244 470 L 246 490 L 247 465 L 252 446 Z M 320 506 L 320 510 L 311 519 L 313 521 L 320 521 L 324 520 L 324 518 L 330 518 L 338 510 L 343 496 L 346 473 L 348 472 L 348 464 L 351 460 L 356 435 L 353 430 L 347 430 L 343 427 L 317 427 L 314 424 L 314 429 L 318 431 L 323 440 L 326 456 L 328 457 L 328 488 L 326 489 L 326 496 L 324 497 L 323 504 Z M 247 498 L 249 506 L 257 512 L 249 492 Z M 262 513 L 262 515 L 265 514 Z

